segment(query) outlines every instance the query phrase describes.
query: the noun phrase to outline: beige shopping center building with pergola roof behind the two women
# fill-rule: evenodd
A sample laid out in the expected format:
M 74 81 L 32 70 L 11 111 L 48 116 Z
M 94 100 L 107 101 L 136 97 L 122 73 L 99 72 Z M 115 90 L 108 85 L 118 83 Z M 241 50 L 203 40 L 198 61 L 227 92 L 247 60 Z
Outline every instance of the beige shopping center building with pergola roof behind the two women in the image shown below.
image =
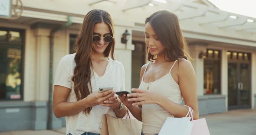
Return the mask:
M 53 77 L 59 60 L 73 53 L 79 26 L 92 9 L 104 9 L 114 19 L 114 56 L 125 67 L 127 91 L 138 87 L 140 68 L 148 62 L 144 20 L 166 9 L 179 17 L 193 58 L 200 115 L 256 109 L 255 18 L 221 11 L 206 0 L 21 2 L 19 18 L 0 19 L 0 131 L 65 126 L 49 104 Z M 12 3 L 15 6 L 16 0 Z M 131 35 L 124 44 L 126 29 Z

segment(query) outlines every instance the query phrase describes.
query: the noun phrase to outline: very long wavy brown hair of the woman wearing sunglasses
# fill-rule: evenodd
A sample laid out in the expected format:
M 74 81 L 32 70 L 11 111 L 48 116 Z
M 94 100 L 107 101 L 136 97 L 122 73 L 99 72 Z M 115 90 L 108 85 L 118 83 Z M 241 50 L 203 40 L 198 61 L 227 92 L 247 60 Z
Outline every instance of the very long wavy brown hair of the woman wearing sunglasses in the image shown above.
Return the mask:
M 85 15 L 83 24 L 80 28 L 79 34 L 76 37 L 74 50 L 75 55 L 75 69 L 72 76 L 74 82 L 74 91 L 77 101 L 87 97 L 92 92 L 91 74 L 92 61 L 91 52 L 93 49 L 93 28 L 96 23 L 106 23 L 110 29 L 110 34 L 114 37 L 112 17 L 105 10 L 91 10 Z M 108 44 L 104 54 L 106 57 L 111 52 L 111 57 L 114 59 L 115 39 Z M 84 110 L 85 114 L 89 114 L 92 107 Z

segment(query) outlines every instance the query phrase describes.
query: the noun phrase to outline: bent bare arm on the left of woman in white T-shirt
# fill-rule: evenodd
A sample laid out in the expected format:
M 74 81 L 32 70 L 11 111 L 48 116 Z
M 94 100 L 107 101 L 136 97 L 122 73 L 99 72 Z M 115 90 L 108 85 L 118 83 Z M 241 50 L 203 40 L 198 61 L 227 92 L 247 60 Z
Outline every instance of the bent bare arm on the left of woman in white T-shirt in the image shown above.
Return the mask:
M 57 118 L 78 114 L 84 109 L 101 104 L 104 100 L 113 96 L 112 90 L 108 90 L 104 93 L 92 93 L 76 102 L 67 102 L 70 90 L 67 87 L 54 86 L 53 112 Z

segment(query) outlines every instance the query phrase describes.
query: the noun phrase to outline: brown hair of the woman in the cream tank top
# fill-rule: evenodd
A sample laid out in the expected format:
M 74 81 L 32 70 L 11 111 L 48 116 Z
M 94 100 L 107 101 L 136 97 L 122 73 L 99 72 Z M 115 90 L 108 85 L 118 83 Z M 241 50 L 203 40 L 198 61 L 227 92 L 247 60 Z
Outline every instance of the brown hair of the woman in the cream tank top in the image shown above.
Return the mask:
M 179 19 L 174 13 L 167 10 L 157 11 L 146 19 L 145 24 L 147 23 L 150 23 L 159 41 L 164 45 L 164 58 L 166 61 L 174 61 L 178 58 L 190 60 Z M 148 61 L 155 60 L 156 56 L 151 55 L 148 46 L 147 51 Z

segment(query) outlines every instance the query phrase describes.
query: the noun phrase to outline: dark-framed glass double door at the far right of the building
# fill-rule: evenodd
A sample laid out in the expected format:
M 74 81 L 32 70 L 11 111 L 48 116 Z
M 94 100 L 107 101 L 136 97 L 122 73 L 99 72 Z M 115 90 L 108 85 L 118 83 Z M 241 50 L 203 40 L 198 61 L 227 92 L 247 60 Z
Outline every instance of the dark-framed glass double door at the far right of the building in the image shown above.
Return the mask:
M 251 107 L 251 71 L 247 53 L 228 52 L 228 109 Z

